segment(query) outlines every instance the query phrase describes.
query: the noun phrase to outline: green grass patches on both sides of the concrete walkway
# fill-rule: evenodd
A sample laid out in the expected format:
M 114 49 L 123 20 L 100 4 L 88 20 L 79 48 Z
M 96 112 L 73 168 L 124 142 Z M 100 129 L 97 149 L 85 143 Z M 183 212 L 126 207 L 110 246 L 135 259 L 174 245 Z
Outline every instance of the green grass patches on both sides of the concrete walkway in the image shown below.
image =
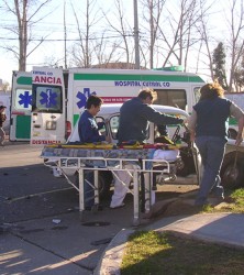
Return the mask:
M 201 212 L 244 213 L 244 188 L 229 190 L 221 208 Z M 244 250 L 202 242 L 173 232 L 136 231 L 129 239 L 121 275 L 241 275 Z

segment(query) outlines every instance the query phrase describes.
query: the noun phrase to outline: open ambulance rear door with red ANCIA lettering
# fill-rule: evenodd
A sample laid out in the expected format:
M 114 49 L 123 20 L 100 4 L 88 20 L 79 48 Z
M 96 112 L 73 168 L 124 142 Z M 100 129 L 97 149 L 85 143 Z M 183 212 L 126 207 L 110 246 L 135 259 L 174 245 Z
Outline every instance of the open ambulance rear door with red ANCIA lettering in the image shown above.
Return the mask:
M 63 70 L 34 67 L 32 92 L 31 145 L 64 143 L 66 114 Z

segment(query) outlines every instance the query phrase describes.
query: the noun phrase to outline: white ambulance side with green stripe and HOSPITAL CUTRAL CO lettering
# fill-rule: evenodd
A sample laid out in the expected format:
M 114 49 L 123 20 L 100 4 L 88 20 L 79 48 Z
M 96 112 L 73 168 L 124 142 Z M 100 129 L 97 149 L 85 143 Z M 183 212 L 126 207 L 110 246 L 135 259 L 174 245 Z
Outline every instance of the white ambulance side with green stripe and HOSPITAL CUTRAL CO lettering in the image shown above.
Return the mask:
M 143 88 L 157 92 L 156 105 L 178 107 L 191 112 L 203 80 L 189 73 L 136 69 L 69 69 L 67 120 L 75 125 L 90 95 L 104 103 L 122 103 Z

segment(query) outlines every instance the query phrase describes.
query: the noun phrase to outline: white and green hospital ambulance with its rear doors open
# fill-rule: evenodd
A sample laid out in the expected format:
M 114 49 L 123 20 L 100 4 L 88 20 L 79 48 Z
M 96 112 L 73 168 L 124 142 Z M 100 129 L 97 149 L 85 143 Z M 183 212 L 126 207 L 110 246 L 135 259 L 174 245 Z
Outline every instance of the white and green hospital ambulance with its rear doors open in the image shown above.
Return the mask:
M 14 72 L 10 139 L 32 145 L 64 143 L 87 98 L 97 95 L 104 103 L 122 103 L 143 88 L 157 94 L 156 105 L 191 112 L 204 81 L 184 72 L 34 67 Z

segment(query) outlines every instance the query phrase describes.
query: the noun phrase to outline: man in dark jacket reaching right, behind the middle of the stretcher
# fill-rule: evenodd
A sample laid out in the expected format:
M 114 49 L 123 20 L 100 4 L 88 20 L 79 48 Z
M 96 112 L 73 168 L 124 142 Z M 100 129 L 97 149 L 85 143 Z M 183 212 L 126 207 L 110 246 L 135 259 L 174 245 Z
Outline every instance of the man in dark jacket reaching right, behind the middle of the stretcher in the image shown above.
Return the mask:
M 132 98 L 122 105 L 118 132 L 119 143 L 127 141 L 145 142 L 149 122 L 154 122 L 157 125 L 181 124 L 184 122 L 182 119 L 157 112 L 151 106 L 154 99 L 156 99 L 155 91 L 153 89 L 144 89 L 140 91 L 136 98 Z M 117 175 L 110 208 L 124 206 L 123 199 L 132 179 L 132 176 L 127 172 L 117 172 Z M 124 185 L 121 182 L 123 182 Z

